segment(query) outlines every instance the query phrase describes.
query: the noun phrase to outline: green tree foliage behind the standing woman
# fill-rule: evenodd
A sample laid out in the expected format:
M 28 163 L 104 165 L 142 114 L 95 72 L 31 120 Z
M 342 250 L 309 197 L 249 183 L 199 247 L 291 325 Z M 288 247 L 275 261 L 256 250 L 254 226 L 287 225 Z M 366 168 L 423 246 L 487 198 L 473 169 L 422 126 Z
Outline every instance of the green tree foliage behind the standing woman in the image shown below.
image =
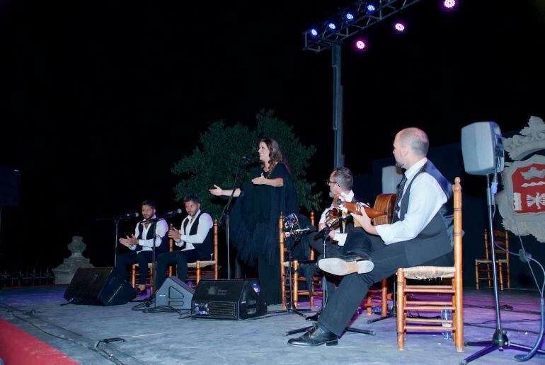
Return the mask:
M 201 135 L 200 146 L 195 146 L 193 153 L 183 156 L 172 169 L 181 178 L 174 187 L 176 199 L 181 201 L 185 195 L 197 194 L 202 209 L 219 218 L 226 199 L 214 197 L 208 190 L 213 184 L 225 190 L 231 189 L 239 158 L 256 151 L 257 141 L 261 137 L 276 139 L 285 153 L 297 189 L 299 207 L 307 211 L 319 209 L 321 192 L 313 193 L 314 183 L 306 180 L 306 170 L 316 148 L 302 145 L 295 137 L 293 127 L 275 117 L 272 110 L 260 110 L 253 129 L 239 123 L 227 127 L 221 120 L 212 122 Z M 248 166 L 248 163 L 241 162 L 237 187 L 249 178 L 253 168 L 256 168 L 256 164 Z

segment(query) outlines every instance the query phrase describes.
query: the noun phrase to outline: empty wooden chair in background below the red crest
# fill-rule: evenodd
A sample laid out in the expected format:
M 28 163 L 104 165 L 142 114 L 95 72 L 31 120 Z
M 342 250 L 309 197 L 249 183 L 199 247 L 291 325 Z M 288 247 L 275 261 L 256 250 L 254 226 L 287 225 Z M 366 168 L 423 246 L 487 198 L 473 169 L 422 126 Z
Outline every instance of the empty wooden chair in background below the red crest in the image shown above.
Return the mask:
M 494 231 L 494 241 L 497 245 L 505 248 L 500 250 L 495 248 L 496 264 L 498 265 L 498 274 L 500 276 L 500 289 L 503 290 L 504 274 L 507 278 L 507 289 L 511 289 L 511 280 L 509 272 L 509 233 L 505 231 Z M 478 282 L 488 281 L 488 287 L 492 287 L 492 260 L 490 260 L 490 240 L 488 231 L 484 230 L 484 247 L 486 259 L 475 260 L 475 284 L 478 290 Z M 500 258 L 498 258 L 500 257 Z M 481 265 L 486 265 L 486 268 L 480 268 Z M 481 276 L 482 273 L 486 273 L 485 276 Z

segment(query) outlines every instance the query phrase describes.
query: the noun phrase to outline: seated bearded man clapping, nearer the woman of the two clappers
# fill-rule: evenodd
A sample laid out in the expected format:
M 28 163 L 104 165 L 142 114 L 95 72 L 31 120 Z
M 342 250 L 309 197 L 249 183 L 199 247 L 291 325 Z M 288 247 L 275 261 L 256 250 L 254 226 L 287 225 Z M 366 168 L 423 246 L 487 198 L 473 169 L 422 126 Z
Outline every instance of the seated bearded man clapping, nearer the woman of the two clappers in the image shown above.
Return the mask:
M 197 195 L 188 195 L 183 198 L 183 202 L 188 216 L 183 219 L 180 230 L 168 231 L 168 237 L 174 240 L 180 250 L 159 255 L 156 282 L 158 289 L 165 282 L 168 265 L 176 264 L 178 279 L 185 281 L 188 276 L 188 262 L 210 260 L 212 254 L 212 226 L 214 226 L 212 217 L 200 210 L 200 199 Z

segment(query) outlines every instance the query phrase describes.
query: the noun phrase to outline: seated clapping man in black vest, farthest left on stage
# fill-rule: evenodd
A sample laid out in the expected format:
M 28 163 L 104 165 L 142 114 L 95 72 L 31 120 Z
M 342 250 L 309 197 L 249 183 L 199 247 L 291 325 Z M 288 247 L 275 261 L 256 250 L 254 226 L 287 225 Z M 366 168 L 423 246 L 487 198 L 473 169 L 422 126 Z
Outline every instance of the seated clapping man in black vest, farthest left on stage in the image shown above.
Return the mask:
M 148 263 L 153 261 L 153 247 L 158 248 L 163 242 L 163 238 L 168 231 L 168 225 L 164 219 L 156 219 L 156 205 L 151 200 L 142 202 L 143 221 L 139 221 L 132 237 L 120 238 L 119 242 L 132 250 L 131 253 L 124 253 L 117 256 L 117 270 L 122 274 L 122 277 L 127 275 L 127 265 L 138 264 L 140 272 L 139 291 L 146 290 L 146 277 L 148 274 Z M 155 233 L 155 238 L 154 238 Z

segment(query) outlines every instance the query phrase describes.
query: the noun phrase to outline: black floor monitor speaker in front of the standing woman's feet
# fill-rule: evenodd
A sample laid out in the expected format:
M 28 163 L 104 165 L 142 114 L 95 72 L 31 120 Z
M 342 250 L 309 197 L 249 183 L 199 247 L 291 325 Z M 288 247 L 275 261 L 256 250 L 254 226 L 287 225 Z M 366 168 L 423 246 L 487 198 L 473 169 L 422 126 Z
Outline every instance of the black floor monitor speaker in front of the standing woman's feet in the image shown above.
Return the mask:
M 191 301 L 193 318 L 243 320 L 267 314 L 248 280 L 201 280 Z

